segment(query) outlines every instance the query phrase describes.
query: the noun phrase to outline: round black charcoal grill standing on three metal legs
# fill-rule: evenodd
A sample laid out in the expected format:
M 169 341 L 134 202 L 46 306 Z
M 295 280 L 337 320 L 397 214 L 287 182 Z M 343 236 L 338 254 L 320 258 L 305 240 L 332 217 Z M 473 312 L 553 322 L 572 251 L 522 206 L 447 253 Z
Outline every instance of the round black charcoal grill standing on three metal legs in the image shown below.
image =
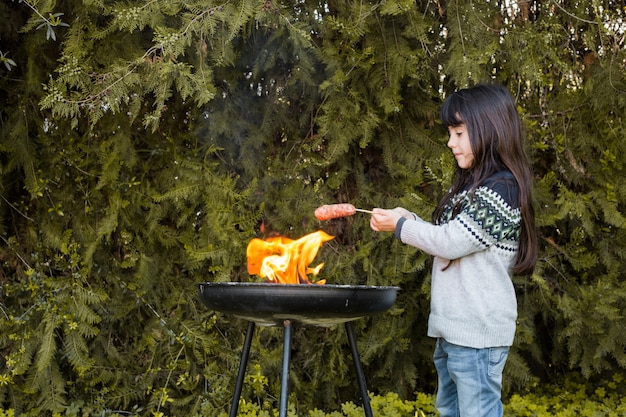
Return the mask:
M 352 322 L 388 310 L 398 287 L 274 283 L 199 283 L 202 302 L 211 310 L 248 321 L 229 417 L 236 417 L 256 325 L 283 326 L 283 363 L 279 417 L 287 417 L 289 361 L 294 325 L 328 327 L 344 324 L 352 353 L 363 410 L 372 417 L 367 384 Z

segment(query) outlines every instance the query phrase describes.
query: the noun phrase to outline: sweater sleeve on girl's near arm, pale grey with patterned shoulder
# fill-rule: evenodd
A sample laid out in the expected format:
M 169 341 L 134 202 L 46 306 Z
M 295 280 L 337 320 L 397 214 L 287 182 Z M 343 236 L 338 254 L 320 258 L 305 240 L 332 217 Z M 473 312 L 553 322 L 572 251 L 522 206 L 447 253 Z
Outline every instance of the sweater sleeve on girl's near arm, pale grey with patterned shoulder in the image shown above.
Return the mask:
M 445 259 L 458 259 L 493 245 L 515 252 L 519 208 L 512 207 L 499 191 L 479 187 L 471 198 L 465 198 L 460 213 L 445 224 L 434 225 L 419 218 L 398 222 L 396 236 L 403 243 Z

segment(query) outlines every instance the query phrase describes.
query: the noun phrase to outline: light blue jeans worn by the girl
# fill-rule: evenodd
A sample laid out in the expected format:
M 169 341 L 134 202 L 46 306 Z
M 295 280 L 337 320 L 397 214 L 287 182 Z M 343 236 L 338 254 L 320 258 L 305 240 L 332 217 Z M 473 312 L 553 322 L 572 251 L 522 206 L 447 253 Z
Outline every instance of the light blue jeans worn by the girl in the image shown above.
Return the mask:
M 508 347 L 473 349 L 437 339 L 437 410 L 441 417 L 502 417 Z

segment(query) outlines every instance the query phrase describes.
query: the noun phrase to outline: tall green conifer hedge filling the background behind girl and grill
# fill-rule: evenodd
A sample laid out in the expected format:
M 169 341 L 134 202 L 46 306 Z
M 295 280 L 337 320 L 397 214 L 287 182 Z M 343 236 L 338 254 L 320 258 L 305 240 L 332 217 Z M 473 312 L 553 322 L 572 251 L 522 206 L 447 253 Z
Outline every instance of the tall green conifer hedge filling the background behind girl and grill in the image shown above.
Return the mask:
M 1 2 L 0 401 L 17 415 L 224 413 L 245 323 L 208 311 L 195 284 L 255 279 L 250 239 L 321 228 L 336 236 L 322 278 L 401 287 L 355 322 L 373 406 L 433 413 L 415 394 L 435 381 L 429 257 L 360 213 L 313 211 L 429 218 L 454 166 L 439 106 L 485 80 L 517 98 L 541 236 L 536 272 L 515 278 L 507 392 L 623 369 L 625 13 L 613 0 Z M 341 328 L 295 333 L 294 412 L 359 414 Z M 243 414 L 276 409 L 281 354 L 279 329 L 255 335 Z M 520 415 L 544 401 L 511 398 Z

